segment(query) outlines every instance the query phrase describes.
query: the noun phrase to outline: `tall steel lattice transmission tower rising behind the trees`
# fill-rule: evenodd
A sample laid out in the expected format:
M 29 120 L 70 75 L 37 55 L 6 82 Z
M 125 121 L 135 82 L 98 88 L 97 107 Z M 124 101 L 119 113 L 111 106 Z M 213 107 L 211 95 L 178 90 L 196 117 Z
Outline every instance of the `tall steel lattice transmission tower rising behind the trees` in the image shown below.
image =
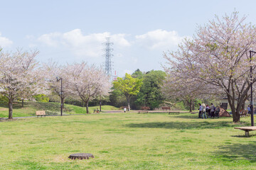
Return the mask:
M 112 79 L 112 51 L 114 50 L 112 48 L 113 42 L 110 42 L 110 38 L 106 38 L 105 42 L 105 74 L 110 76 Z

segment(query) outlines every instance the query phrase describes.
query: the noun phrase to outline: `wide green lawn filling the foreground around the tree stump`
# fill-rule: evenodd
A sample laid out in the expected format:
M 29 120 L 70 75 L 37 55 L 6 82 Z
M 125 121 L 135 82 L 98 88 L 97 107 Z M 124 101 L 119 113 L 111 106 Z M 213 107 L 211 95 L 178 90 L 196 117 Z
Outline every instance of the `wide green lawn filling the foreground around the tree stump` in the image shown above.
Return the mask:
M 0 122 L 0 169 L 256 169 L 241 118 L 100 113 Z M 94 159 L 71 160 L 91 153 Z

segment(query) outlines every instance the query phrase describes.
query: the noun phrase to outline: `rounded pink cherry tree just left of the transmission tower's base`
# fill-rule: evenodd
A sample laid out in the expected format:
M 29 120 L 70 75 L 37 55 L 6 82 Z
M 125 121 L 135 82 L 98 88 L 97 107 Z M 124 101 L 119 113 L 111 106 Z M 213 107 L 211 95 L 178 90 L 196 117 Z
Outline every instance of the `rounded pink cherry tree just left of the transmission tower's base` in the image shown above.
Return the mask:
M 109 95 L 110 79 L 102 69 L 95 65 L 88 66 L 85 62 L 68 64 L 63 74 L 67 75 L 70 93 L 85 102 L 87 113 L 89 113 L 90 100 L 97 96 Z

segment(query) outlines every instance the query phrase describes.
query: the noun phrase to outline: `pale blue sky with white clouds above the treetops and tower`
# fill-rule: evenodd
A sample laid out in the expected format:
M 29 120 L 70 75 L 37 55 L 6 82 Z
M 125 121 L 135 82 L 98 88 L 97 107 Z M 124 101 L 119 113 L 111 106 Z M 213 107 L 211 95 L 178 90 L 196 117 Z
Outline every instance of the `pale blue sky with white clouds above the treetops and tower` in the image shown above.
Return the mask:
M 40 51 L 37 60 L 85 61 L 100 66 L 106 37 L 114 43 L 113 70 L 162 69 L 163 52 L 215 15 L 239 11 L 256 24 L 256 1 L 23 0 L 0 1 L 0 46 Z

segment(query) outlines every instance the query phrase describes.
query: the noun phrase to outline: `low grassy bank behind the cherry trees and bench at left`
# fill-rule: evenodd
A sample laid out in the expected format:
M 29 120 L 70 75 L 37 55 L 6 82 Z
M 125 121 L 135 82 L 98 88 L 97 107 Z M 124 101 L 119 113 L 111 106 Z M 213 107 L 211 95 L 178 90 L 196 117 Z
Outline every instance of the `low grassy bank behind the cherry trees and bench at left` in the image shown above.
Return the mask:
M 93 113 L 99 106 L 89 107 L 89 112 Z M 102 106 L 102 111 L 117 110 L 113 106 Z M 24 102 L 23 108 L 21 102 L 14 102 L 13 117 L 26 117 L 36 115 L 36 111 L 46 111 L 48 115 L 60 115 L 60 103 L 53 102 Z M 64 105 L 63 115 L 85 114 L 86 108 L 73 105 Z M 0 103 L 0 117 L 8 118 L 9 108 L 7 103 Z

